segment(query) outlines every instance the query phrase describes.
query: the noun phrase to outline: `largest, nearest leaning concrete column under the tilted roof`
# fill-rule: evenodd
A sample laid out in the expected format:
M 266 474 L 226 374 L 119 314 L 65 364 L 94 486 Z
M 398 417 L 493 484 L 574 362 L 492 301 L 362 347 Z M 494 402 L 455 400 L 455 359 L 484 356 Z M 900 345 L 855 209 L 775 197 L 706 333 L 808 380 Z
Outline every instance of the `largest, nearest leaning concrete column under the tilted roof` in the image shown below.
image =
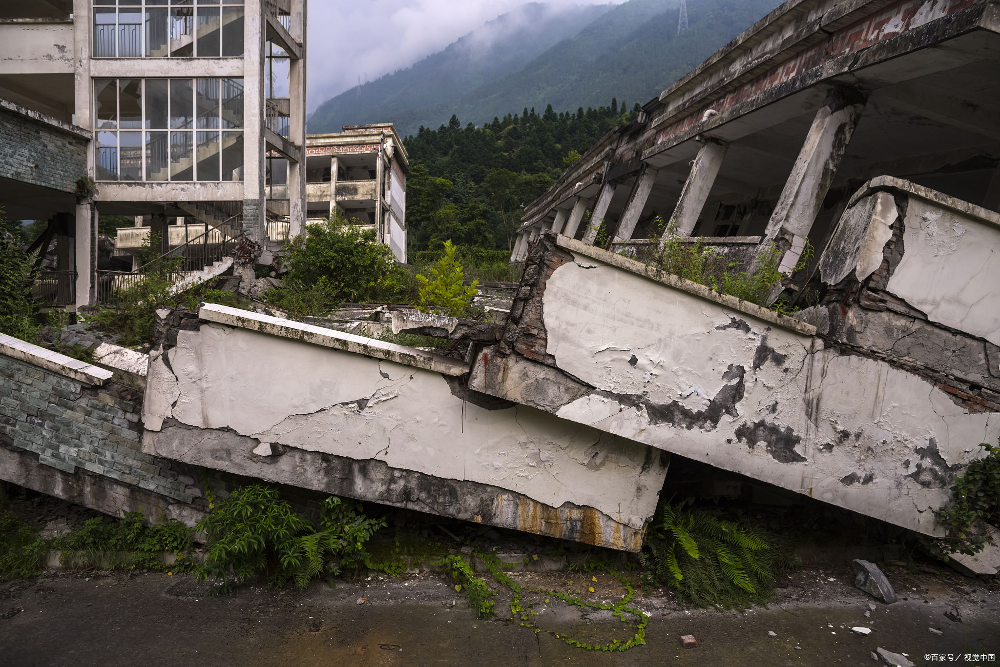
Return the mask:
M 779 270 L 790 273 L 799 261 L 806 237 L 840 166 L 867 96 L 852 88 L 834 88 L 816 112 L 812 127 L 785 181 L 764 232 L 765 247 L 774 242 L 784 251 Z M 775 298 L 777 294 L 773 295 Z

